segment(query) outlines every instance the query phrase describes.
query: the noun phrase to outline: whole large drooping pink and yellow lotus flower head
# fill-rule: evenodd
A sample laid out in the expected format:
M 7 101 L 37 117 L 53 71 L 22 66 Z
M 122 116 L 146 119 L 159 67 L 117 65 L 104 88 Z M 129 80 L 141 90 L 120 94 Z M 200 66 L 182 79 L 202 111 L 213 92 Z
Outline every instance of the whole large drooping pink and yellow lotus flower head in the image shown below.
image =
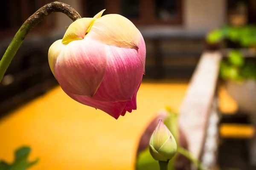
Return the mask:
M 49 48 L 51 71 L 63 91 L 84 105 L 118 119 L 137 109 L 145 74 L 145 42 L 140 31 L 118 14 L 73 22 Z

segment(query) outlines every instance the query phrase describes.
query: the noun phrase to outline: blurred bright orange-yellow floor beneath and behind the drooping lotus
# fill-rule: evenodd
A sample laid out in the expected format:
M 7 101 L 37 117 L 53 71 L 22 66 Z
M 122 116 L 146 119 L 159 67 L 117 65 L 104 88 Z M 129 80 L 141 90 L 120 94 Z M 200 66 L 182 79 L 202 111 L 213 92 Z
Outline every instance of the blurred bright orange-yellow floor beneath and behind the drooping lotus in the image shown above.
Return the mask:
M 116 120 L 57 87 L 0 120 L 0 159 L 12 161 L 17 147 L 29 145 L 30 159 L 40 158 L 31 170 L 133 170 L 144 128 L 166 105 L 178 111 L 186 88 L 186 83 L 143 83 L 137 111 Z M 220 94 L 221 110 L 236 111 L 223 89 Z

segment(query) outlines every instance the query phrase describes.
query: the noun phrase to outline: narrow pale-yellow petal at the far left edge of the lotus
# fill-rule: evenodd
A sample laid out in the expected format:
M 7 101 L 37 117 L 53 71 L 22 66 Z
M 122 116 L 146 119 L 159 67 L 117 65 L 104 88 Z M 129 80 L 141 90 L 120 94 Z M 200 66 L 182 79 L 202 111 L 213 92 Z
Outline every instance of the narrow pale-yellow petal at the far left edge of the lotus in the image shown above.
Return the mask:
M 48 51 L 48 62 L 49 66 L 51 68 L 52 74 L 55 76 L 55 64 L 57 61 L 57 58 L 61 51 L 64 49 L 65 45 L 61 43 L 62 40 L 57 40 L 53 42 L 53 44 L 50 46 L 49 51 Z

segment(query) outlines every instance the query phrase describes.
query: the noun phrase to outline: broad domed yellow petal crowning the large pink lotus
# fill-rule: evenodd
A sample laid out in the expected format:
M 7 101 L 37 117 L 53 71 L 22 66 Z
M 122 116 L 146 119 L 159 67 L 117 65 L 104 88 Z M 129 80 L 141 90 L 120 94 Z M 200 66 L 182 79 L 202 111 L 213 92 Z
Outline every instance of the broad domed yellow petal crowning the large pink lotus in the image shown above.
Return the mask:
M 122 48 L 138 48 L 140 45 L 140 31 L 119 14 L 107 14 L 97 19 L 86 38 Z

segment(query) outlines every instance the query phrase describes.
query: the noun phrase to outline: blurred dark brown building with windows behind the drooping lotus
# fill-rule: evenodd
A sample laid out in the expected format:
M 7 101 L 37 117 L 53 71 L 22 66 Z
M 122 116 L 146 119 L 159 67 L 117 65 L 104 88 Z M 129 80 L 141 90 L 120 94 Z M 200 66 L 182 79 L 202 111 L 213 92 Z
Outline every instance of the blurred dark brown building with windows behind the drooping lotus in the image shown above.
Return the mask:
M 0 0 L 0 55 L 22 23 L 53 0 Z M 204 50 L 204 36 L 227 22 L 256 22 L 255 0 L 61 0 L 82 17 L 121 14 L 139 28 L 147 47 L 150 79 L 189 79 Z M 0 113 L 57 85 L 49 69 L 48 48 L 72 23 L 51 14 L 23 42 L 0 84 Z

